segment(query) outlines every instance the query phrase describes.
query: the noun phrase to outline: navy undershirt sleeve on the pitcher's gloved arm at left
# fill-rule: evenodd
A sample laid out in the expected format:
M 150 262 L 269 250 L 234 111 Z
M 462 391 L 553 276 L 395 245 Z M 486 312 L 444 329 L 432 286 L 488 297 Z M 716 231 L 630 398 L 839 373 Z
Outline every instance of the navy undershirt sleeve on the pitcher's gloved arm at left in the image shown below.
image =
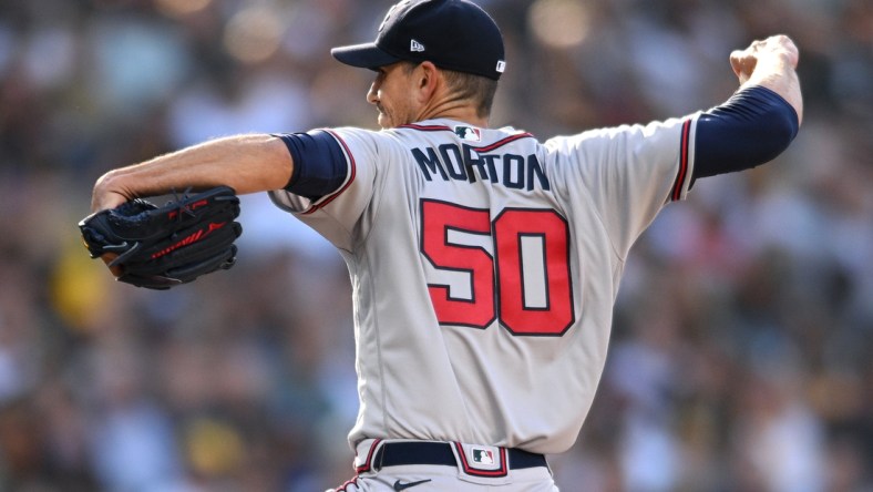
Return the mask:
M 346 182 L 349 164 L 339 143 L 328 132 L 277 134 L 294 160 L 294 172 L 285 189 L 316 201 Z

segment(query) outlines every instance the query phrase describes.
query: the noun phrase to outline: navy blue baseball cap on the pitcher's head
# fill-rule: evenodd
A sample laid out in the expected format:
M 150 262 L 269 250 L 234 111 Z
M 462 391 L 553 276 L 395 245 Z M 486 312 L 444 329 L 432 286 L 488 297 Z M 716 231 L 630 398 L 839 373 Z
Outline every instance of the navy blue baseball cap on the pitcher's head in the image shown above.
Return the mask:
M 493 80 L 506 68 L 500 28 L 466 0 L 403 0 L 388 11 L 376 41 L 333 48 L 330 53 L 363 69 L 430 61 Z

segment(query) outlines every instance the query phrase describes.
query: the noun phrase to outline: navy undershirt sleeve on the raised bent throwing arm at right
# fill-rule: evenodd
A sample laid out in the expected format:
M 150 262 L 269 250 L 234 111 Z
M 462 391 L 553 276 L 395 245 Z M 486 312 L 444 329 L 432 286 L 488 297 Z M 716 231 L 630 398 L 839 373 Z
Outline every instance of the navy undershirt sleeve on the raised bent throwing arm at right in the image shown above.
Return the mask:
M 700 115 L 694 180 L 772 161 L 798 134 L 794 107 L 776 92 L 753 86 Z

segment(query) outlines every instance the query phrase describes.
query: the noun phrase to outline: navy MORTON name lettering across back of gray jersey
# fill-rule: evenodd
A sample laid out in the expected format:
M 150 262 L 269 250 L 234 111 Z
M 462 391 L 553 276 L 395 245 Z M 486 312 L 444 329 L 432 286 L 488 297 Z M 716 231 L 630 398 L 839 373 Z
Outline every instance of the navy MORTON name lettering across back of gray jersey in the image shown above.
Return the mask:
M 466 144 L 446 143 L 436 148 L 412 148 L 412 155 L 428 181 L 439 176 L 443 181 L 475 183 L 479 178 L 528 192 L 537 185 L 552 189 L 535 154 L 492 154 Z

